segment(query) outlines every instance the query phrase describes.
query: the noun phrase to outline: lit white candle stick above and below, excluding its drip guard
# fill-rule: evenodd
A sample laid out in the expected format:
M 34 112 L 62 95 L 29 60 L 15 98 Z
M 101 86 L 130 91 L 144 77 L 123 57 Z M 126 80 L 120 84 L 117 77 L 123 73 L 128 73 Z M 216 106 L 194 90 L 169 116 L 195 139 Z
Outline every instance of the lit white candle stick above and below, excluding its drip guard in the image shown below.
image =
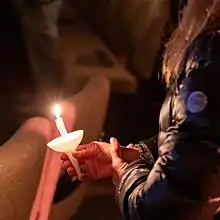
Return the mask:
M 54 115 L 56 117 L 55 123 L 56 123 L 56 127 L 57 130 L 59 131 L 61 137 L 67 138 L 68 132 L 66 130 L 66 126 L 64 124 L 63 118 L 61 117 L 61 107 L 60 105 L 56 104 L 54 106 Z M 80 167 L 79 167 L 79 163 L 78 160 L 76 158 L 73 157 L 72 152 L 64 152 L 68 155 L 71 163 L 73 164 L 74 168 L 76 169 L 76 173 L 78 174 L 78 176 L 80 175 L 81 171 L 80 171 Z

